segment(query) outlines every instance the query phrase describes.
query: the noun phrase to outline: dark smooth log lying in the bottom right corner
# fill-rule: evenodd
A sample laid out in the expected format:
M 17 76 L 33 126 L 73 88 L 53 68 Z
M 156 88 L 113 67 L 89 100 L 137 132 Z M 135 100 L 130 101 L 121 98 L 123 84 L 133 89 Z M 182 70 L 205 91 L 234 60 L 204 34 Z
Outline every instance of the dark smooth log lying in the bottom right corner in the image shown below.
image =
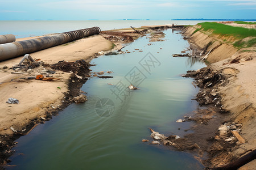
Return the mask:
M 245 156 L 242 156 L 241 158 L 235 160 L 232 163 L 229 163 L 227 165 L 224 165 L 222 167 L 217 167 L 217 168 L 205 168 L 205 169 L 211 169 L 211 170 L 234 170 L 242 167 L 243 165 L 251 162 L 252 160 L 256 159 L 256 149 L 249 152 L 249 154 L 246 154 Z

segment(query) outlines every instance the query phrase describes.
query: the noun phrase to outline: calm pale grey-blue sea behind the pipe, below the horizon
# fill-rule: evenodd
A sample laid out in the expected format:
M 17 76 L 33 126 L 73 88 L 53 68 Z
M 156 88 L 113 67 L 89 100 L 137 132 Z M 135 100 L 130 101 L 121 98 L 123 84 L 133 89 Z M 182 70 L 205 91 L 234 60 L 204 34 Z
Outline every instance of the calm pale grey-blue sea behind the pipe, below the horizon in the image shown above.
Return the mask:
M 100 27 L 102 31 L 110 29 L 141 27 L 143 25 L 194 25 L 202 21 L 189 20 L 0 20 L 0 35 L 13 34 L 16 39 L 23 37 L 42 36 L 51 33 L 61 33 Z

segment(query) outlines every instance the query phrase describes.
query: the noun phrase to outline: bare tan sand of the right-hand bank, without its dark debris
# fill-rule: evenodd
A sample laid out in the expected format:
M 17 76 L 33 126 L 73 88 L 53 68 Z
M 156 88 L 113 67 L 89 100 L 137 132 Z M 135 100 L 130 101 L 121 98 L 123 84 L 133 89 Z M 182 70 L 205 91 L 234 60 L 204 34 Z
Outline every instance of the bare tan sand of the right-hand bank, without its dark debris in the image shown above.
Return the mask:
M 206 69 L 200 71 L 197 76 L 210 77 L 221 76 L 221 82 L 205 86 L 201 93 L 216 90 L 220 96 L 220 105 L 213 101 L 216 107 L 227 112 L 222 121 L 236 122 L 242 124 L 241 136 L 246 143 L 234 143 L 235 146 L 229 150 L 223 147 L 212 155 L 209 162 L 212 166 L 220 166 L 240 158 L 244 151 L 256 148 L 256 47 L 246 49 L 234 48 L 232 44 L 225 43 L 220 37 L 209 36 L 200 31 L 194 32 L 196 28 L 188 27 L 184 31 L 185 38 L 191 43 L 195 54 L 203 58 L 211 50 L 207 61 L 212 63 Z M 200 75 L 201 74 L 201 75 Z M 203 81 L 204 79 L 201 79 Z M 200 83 L 199 83 L 200 84 Z M 209 84 L 208 84 L 209 85 Z M 203 100 L 208 96 L 205 95 Z M 214 97 L 213 97 L 214 98 Z M 208 98 L 209 99 L 209 98 Z M 208 100 L 207 99 L 207 100 Z M 216 105 L 217 104 L 217 105 Z M 222 122 L 219 122 L 221 125 Z M 216 134 L 217 134 L 216 129 Z M 216 145 L 215 139 L 213 145 Z M 212 146 L 209 146 L 211 148 Z M 256 160 L 244 165 L 241 169 L 255 169 Z

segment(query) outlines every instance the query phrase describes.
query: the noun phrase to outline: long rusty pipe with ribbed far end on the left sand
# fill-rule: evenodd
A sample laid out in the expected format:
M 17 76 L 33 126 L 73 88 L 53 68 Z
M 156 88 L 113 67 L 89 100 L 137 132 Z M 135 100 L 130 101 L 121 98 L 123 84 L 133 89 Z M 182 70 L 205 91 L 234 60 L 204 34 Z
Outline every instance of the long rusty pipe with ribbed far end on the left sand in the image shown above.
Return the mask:
M 38 37 L 36 39 L 0 44 L 0 61 L 37 52 L 52 46 L 71 42 L 91 35 L 99 34 L 99 27 L 79 29 L 76 31 L 58 33 L 51 36 Z

